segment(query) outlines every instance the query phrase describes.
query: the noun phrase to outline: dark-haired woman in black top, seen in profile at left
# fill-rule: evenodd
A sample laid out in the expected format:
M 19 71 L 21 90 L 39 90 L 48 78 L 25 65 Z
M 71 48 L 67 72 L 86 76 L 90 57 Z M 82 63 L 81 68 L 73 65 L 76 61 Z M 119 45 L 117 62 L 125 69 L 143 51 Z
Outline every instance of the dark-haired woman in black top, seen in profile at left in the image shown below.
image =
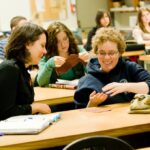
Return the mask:
M 33 103 L 34 90 L 28 67 L 46 54 L 46 31 L 26 23 L 16 28 L 6 45 L 6 59 L 0 64 L 0 120 L 11 116 L 50 113 L 47 104 Z

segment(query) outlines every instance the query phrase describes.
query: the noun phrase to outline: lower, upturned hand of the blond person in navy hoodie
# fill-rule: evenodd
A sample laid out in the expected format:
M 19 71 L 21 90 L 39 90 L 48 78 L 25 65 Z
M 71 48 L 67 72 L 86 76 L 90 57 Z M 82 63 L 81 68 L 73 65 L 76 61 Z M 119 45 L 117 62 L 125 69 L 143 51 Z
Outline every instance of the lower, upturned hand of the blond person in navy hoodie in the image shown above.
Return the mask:
M 107 99 L 108 95 L 101 92 L 96 93 L 96 91 L 90 94 L 90 100 L 87 104 L 87 107 L 96 107 Z

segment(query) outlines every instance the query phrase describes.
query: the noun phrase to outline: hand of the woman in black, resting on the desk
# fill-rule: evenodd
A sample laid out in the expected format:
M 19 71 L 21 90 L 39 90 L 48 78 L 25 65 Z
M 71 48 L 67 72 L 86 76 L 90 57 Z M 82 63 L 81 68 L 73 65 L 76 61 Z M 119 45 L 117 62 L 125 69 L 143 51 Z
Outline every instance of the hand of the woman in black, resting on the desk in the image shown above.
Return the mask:
M 32 114 L 41 113 L 41 114 L 49 114 L 51 113 L 51 109 L 47 104 L 43 103 L 32 103 Z

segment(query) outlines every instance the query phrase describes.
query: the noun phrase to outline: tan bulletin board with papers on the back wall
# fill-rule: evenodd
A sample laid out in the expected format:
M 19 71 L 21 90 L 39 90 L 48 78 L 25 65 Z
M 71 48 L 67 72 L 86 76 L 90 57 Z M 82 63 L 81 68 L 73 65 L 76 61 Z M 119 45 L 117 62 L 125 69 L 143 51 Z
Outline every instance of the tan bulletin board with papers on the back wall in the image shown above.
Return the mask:
M 30 0 L 33 19 L 40 21 L 67 19 L 67 0 Z

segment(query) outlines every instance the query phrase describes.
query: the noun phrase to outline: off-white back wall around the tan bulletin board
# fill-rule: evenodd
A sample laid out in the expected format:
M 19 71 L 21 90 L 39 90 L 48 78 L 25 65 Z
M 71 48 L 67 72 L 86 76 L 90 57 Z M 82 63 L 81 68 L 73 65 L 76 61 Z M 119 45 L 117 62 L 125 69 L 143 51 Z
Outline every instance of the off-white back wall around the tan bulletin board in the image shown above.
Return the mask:
M 68 7 L 68 17 L 67 19 L 61 20 L 66 24 L 71 30 L 76 30 L 78 28 L 76 13 L 71 13 L 70 11 L 70 0 L 67 1 Z M 82 1 L 82 0 L 81 0 Z M 16 15 L 22 15 L 32 19 L 30 0 L 0 0 L 0 30 L 8 31 L 10 30 L 10 19 Z M 47 28 L 47 26 L 52 21 L 48 20 L 42 22 L 42 26 Z

